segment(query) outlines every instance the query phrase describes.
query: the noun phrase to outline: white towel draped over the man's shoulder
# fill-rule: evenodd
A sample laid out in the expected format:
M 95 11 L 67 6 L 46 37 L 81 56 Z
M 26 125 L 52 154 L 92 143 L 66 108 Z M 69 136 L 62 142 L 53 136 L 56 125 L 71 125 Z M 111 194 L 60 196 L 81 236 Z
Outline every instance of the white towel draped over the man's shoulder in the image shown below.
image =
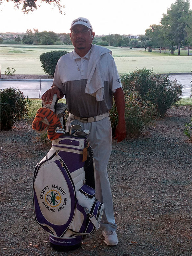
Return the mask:
M 96 97 L 96 101 L 103 101 L 104 94 L 104 79 L 103 70 L 100 63 L 103 54 L 112 52 L 102 46 L 92 45 L 91 56 L 87 68 L 87 84 L 85 92 Z

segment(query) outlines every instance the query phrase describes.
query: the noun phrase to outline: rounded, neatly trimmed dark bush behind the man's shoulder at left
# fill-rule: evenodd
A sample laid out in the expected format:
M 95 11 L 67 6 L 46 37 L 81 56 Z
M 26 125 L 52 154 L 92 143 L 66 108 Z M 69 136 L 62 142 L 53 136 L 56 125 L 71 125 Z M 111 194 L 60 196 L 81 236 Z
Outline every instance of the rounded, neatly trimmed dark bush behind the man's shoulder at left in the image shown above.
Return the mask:
M 47 53 L 43 53 L 39 56 L 41 61 L 41 67 L 43 68 L 46 74 L 54 76 L 55 68 L 57 65 L 57 61 L 61 56 L 67 54 L 66 51 L 51 51 Z

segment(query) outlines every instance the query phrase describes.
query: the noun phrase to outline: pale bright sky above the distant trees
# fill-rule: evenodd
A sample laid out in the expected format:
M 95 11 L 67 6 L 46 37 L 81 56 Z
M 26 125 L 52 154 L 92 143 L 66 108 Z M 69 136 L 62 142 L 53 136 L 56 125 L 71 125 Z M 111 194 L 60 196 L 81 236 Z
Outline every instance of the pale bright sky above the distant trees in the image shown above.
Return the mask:
M 40 3 L 40 0 L 38 0 Z M 26 32 L 38 29 L 55 33 L 69 33 L 71 22 L 78 17 L 90 20 L 96 35 L 145 34 L 151 24 L 159 24 L 163 13 L 175 0 L 61 0 L 64 14 L 57 7 L 40 3 L 32 13 L 14 9 L 14 3 L 0 5 L 0 32 Z M 192 8 L 192 0 L 190 0 Z

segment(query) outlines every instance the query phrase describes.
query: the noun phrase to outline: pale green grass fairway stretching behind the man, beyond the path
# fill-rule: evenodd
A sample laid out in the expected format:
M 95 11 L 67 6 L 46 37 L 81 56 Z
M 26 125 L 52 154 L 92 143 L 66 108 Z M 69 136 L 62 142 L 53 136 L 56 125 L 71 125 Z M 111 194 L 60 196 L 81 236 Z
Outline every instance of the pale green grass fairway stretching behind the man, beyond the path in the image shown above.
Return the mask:
M 141 48 L 107 47 L 112 50 L 120 75 L 136 69 L 152 69 L 155 73 L 190 73 L 192 56 L 186 56 L 187 51 L 181 50 L 181 56 L 170 54 L 166 50 L 149 53 Z M 1 73 L 6 67 L 15 68 L 15 74 L 45 74 L 41 68 L 39 56 L 42 53 L 56 50 L 71 52 L 73 46 L 60 45 L 0 45 Z

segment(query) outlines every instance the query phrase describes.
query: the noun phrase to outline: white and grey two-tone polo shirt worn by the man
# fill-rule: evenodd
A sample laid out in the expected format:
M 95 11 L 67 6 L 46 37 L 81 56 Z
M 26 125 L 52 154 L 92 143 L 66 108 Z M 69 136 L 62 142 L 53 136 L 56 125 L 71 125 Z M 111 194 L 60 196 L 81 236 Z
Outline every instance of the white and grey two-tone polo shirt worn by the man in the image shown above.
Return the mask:
M 65 95 L 68 111 L 78 117 L 94 117 L 109 111 L 113 104 L 113 92 L 122 87 L 114 59 L 110 53 L 101 56 L 104 80 L 104 100 L 85 93 L 87 67 L 91 49 L 80 57 L 75 49 L 63 55 L 56 65 L 53 84 Z

